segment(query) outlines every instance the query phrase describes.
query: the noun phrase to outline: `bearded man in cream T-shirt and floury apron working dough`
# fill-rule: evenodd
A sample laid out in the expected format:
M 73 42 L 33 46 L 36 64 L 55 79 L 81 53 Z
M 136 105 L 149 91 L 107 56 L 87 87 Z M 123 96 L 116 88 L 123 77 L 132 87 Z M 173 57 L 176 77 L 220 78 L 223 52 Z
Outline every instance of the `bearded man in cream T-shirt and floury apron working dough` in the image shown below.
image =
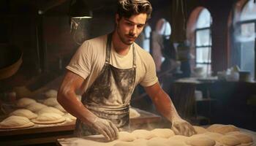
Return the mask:
M 160 87 L 151 55 L 135 44 L 151 10 L 148 0 L 118 0 L 113 33 L 83 42 L 67 66 L 58 101 L 78 118 L 78 137 L 103 134 L 117 139 L 118 128 L 129 126 L 129 101 L 138 83 L 176 134 L 195 133 Z M 76 93 L 83 93 L 81 101 Z

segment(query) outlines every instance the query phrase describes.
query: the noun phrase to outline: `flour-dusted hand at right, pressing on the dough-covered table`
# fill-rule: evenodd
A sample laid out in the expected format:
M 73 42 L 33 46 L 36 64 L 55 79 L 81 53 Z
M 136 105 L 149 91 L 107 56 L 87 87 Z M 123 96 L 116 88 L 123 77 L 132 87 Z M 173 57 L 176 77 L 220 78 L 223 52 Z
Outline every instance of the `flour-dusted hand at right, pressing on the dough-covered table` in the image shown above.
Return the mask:
M 172 120 L 172 130 L 176 135 L 184 135 L 186 137 L 196 134 L 195 128 L 186 120 L 181 118 L 174 118 Z

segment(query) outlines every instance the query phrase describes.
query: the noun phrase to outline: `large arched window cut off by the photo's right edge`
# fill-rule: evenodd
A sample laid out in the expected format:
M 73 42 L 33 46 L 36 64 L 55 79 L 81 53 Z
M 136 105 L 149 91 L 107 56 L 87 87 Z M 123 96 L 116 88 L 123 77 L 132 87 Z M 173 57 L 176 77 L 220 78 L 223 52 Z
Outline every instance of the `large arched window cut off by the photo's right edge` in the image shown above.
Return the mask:
M 255 39 L 256 39 L 256 4 L 249 0 L 241 11 L 240 20 L 235 33 L 238 47 L 238 65 L 241 70 L 249 71 L 251 77 L 255 77 Z M 239 55 L 240 54 L 240 55 Z

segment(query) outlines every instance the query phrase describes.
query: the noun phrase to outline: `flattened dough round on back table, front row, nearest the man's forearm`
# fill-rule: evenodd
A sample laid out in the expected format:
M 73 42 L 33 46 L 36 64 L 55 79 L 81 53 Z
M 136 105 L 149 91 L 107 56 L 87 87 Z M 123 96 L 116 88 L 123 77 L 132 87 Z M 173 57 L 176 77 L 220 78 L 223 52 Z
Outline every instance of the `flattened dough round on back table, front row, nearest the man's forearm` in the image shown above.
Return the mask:
M 51 123 L 62 123 L 66 118 L 54 112 L 46 112 L 38 115 L 36 119 L 32 119 L 32 122 L 39 124 L 51 124 Z

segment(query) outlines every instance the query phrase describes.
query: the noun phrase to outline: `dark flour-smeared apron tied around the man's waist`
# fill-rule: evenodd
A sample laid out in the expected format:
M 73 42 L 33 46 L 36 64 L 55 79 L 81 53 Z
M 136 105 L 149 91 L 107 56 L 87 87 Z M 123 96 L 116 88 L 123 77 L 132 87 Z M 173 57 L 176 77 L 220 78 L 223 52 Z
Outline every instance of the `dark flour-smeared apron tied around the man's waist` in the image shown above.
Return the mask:
M 99 77 L 82 96 L 83 105 L 99 118 L 112 121 L 119 129 L 129 130 L 129 102 L 135 88 L 135 47 L 133 67 L 118 69 L 110 64 L 112 34 L 108 34 L 105 64 Z M 79 119 L 75 124 L 75 135 L 83 137 L 99 134 Z

